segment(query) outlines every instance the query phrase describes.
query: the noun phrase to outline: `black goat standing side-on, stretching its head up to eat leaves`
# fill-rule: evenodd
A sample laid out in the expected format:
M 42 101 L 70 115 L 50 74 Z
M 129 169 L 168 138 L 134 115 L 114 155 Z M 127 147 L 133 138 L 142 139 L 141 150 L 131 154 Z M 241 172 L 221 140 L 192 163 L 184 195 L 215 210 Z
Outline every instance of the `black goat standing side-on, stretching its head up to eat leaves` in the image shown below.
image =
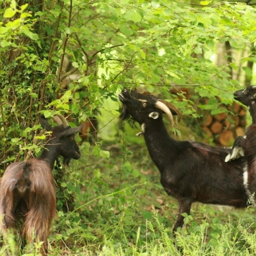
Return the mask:
M 173 231 L 182 227 L 184 217 L 181 214 L 189 214 L 192 202 L 247 206 L 243 157 L 225 163 L 227 148 L 170 138 L 163 113 L 171 122 L 172 115 L 180 113 L 169 102 L 127 89 L 122 90 L 119 99 L 124 105 L 120 117 L 124 120 L 131 115 L 141 125 L 148 152 L 161 173 L 161 184 L 166 193 L 179 202 L 179 215 Z

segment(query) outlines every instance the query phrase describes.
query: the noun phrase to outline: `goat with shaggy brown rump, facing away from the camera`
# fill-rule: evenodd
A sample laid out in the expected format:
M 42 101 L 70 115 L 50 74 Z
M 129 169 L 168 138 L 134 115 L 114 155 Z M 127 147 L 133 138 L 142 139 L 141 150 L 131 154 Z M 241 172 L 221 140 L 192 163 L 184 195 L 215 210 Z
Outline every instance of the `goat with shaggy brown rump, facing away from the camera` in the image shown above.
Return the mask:
M 29 243 L 43 241 L 42 255 L 47 255 L 47 236 L 52 218 L 56 215 L 56 192 L 52 168 L 54 161 L 61 155 L 64 163 L 70 159 L 79 159 L 79 147 L 74 134 L 83 125 L 70 128 L 61 115 L 54 116 L 58 124 L 51 127 L 44 116 L 39 118 L 40 124 L 51 131 L 45 139 L 42 154 L 36 159 L 10 164 L 4 172 L 0 184 L 0 232 L 3 236 L 7 230 L 19 230 L 24 246 Z

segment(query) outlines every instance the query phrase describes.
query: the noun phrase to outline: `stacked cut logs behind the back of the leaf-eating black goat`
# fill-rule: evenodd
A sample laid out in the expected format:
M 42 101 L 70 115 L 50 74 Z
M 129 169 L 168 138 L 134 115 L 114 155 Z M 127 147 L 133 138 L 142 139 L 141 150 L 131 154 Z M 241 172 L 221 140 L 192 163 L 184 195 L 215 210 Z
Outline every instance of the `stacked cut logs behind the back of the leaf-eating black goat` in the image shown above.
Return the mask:
M 184 93 L 186 94 L 186 99 L 190 99 L 191 93 L 187 91 L 188 89 L 180 88 L 180 91 L 175 89 L 172 90 L 171 93 L 178 95 Z M 198 98 L 200 99 L 200 97 Z M 180 96 L 179 99 L 182 100 Z M 207 104 L 208 100 L 208 98 L 200 99 L 200 104 Z M 197 107 L 195 106 L 195 108 Z M 227 106 L 223 106 L 223 108 L 227 109 Z M 230 114 L 219 113 L 218 115 L 211 115 L 211 110 L 197 109 L 196 111 L 198 115 L 202 116 L 199 120 L 202 134 L 198 135 L 202 136 L 205 142 L 212 141 L 215 145 L 231 147 L 237 136 L 245 135 L 246 108 L 239 105 L 237 102 L 234 102 L 232 106 L 228 107 Z

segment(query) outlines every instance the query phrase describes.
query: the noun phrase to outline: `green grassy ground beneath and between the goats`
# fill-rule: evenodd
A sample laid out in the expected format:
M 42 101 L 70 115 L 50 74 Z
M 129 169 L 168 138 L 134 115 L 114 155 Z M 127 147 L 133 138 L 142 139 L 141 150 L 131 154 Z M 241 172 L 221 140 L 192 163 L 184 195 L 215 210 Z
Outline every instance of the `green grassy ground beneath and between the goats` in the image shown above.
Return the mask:
M 65 199 L 58 200 L 49 255 L 256 255 L 252 208 L 193 204 L 174 237 L 177 201 L 161 187 L 145 146 L 102 148 L 109 150 L 108 159 L 99 152 L 94 156 L 85 145 L 84 157 L 65 170 Z M 64 212 L 61 207 L 71 195 L 74 209 Z M 15 255 L 15 250 L 10 237 L 0 255 Z M 29 252 L 24 255 L 39 255 L 38 249 Z

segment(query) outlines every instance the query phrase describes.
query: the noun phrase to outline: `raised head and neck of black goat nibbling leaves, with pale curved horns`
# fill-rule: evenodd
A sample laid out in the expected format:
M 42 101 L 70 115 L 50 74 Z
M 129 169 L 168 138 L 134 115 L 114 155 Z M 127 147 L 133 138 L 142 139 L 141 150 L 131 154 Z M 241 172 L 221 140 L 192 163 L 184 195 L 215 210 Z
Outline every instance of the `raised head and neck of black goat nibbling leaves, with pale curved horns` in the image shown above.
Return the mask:
M 163 122 L 163 113 L 166 113 L 172 124 L 172 115 L 180 116 L 179 109 L 172 104 L 160 101 L 153 95 L 143 95 L 132 90 L 124 89 L 119 94 L 119 99 L 124 108 L 121 118 L 124 120 L 128 116 L 141 125 L 142 134 L 147 144 L 148 152 L 152 160 L 163 171 L 173 161 L 179 150 L 179 141 L 173 140 L 166 130 Z M 170 156 L 163 156 L 163 152 L 170 152 Z

